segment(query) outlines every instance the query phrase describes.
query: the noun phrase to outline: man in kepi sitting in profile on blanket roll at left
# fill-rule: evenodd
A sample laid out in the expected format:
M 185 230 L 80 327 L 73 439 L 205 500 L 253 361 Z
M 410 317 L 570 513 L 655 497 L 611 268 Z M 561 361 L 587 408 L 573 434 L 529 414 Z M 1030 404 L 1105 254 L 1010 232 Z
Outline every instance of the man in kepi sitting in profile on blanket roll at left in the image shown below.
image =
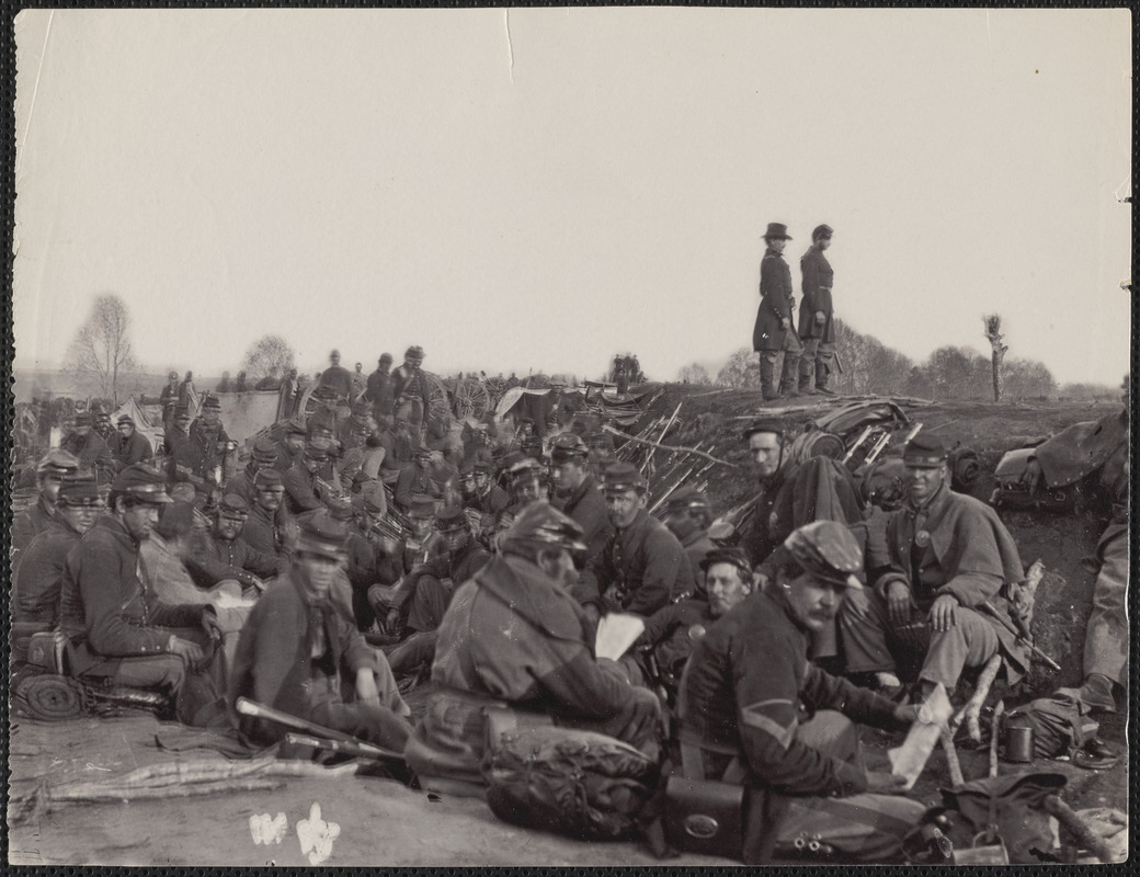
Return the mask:
M 180 721 L 201 722 L 199 707 L 211 706 L 217 692 L 212 684 L 187 682 L 210 663 L 203 644 L 220 638 L 214 611 L 148 600 L 139 578 L 139 545 L 157 523 L 160 507 L 171 502 L 162 474 L 128 466 L 112 484 L 108 502 L 111 514 L 67 555 L 59 620 L 67 671 L 158 689 L 174 699 Z

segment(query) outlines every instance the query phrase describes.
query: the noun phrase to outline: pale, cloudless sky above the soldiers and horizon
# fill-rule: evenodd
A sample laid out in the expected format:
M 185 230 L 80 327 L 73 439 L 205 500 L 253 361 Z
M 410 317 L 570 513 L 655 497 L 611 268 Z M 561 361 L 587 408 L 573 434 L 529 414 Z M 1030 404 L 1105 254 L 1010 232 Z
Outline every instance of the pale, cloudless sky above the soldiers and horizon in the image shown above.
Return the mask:
M 750 347 L 768 222 L 837 315 L 1116 385 L 1131 17 L 1100 10 L 25 10 L 16 367 L 100 293 L 148 371 L 670 380 Z

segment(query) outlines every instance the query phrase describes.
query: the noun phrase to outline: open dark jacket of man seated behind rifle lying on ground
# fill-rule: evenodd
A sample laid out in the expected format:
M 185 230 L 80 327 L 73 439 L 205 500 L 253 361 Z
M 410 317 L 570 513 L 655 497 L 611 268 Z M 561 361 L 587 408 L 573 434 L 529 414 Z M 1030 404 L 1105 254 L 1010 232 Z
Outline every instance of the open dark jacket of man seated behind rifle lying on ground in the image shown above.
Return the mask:
M 317 724 L 327 724 L 326 710 L 342 703 L 342 673 L 356 676 L 359 669 L 380 668 L 376 652 L 349 620 L 334 608 L 333 598 L 312 606 L 304 585 L 290 573 L 261 595 L 242 628 L 228 699 L 230 715 L 238 723 L 234 705 L 247 697 Z M 323 631 L 318 632 L 318 627 Z M 326 649 L 314 658 L 314 642 L 323 636 Z M 241 717 L 241 729 L 258 740 L 279 740 L 279 725 Z

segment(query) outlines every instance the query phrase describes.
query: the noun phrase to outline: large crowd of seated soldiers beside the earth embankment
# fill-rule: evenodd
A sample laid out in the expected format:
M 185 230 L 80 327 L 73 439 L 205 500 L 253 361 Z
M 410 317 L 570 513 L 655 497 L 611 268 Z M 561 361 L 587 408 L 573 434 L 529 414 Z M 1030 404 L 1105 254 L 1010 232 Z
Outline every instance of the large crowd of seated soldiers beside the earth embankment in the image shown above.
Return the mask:
M 50 453 L 14 526 L 17 619 L 63 631 L 70 673 L 160 688 L 184 722 L 278 740 L 235 712 L 251 697 L 404 750 L 437 783 L 481 783 L 484 714 L 504 705 L 670 754 L 758 796 L 750 863 L 801 835 L 896 854 L 921 807 L 885 794 L 901 779 L 864 769 L 852 723 L 905 729 L 996 653 L 1010 679 L 1025 669 L 987 615 L 1024 575 L 1017 547 L 951 490 L 936 439 L 907 444 L 883 510 L 868 502 L 883 492 L 789 460 L 783 424 L 758 420 L 755 513 L 714 538 L 690 486 L 651 514 L 605 433 L 469 430 L 445 453 L 405 419 L 350 412 L 347 441 L 320 411 L 279 424 L 223 486 L 178 453 L 215 458 L 212 415 L 195 430 L 176 412 L 177 462 L 127 465 L 109 494 Z M 595 657 L 610 614 L 644 623 L 620 660 Z M 415 728 L 397 674 L 435 685 Z

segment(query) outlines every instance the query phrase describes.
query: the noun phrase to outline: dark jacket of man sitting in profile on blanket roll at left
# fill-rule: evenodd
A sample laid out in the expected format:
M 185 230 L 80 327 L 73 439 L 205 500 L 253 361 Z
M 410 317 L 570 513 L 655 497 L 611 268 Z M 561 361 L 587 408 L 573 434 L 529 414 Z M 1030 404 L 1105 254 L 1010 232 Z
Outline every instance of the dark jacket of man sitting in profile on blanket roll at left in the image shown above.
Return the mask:
M 116 658 L 166 653 L 171 627 L 197 627 L 202 606 L 148 603 L 135 539 L 119 519 L 96 521 L 67 554 L 59 628 L 74 676 L 112 675 Z

